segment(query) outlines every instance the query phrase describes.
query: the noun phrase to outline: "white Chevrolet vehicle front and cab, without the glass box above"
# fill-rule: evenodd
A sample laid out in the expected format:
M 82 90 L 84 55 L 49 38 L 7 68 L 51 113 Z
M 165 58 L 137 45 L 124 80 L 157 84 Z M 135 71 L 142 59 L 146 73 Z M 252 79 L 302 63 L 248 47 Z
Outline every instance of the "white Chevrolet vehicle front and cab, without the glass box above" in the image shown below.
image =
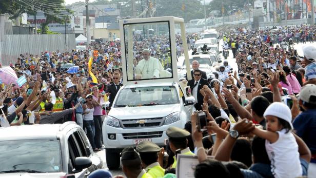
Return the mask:
M 127 146 L 143 141 L 164 146 L 167 128 L 184 128 L 194 103 L 193 97 L 183 96 L 175 82 L 123 86 L 103 122 L 108 168 L 120 166 L 120 152 Z

